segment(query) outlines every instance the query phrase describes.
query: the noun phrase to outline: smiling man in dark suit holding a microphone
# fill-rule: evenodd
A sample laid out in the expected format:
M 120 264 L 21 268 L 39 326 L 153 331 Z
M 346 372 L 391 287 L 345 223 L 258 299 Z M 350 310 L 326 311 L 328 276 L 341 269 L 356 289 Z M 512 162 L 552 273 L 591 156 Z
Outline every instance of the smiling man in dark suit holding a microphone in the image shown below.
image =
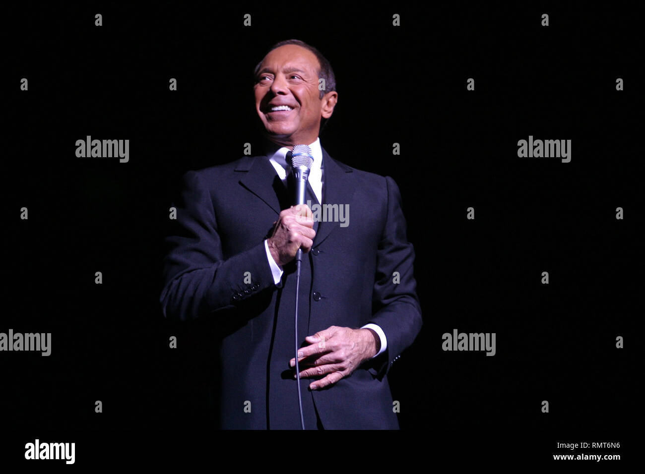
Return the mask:
M 273 46 L 255 68 L 254 92 L 266 155 L 184 175 L 177 230 L 166 239 L 163 313 L 214 318 L 221 328 L 222 428 L 298 429 L 294 257 L 302 248 L 305 427 L 397 429 L 387 373 L 422 324 L 399 189 L 321 147 L 321 120 L 338 94 L 315 48 Z M 308 201 L 351 211 L 344 223 L 290 206 L 285 156 L 297 144 L 312 148 Z

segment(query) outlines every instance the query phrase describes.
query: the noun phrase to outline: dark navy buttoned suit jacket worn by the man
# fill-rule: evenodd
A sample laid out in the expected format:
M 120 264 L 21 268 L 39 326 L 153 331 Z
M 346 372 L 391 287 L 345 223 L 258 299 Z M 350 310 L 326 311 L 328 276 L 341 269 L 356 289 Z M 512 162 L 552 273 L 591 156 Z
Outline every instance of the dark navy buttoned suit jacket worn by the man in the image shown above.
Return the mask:
M 422 324 L 401 195 L 392 178 L 346 166 L 324 148 L 323 164 L 323 203 L 349 204 L 349 224 L 317 222 L 301 268 L 300 342 L 330 326 L 373 322 L 387 350 L 330 388 L 310 391 L 312 379 L 301 379 L 306 428 L 315 428 L 317 411 L 325 429 L 396 429 L 387 373 Z M 165 317 L 213 318 L 221 328 L 213 341 L 221 428 L 300 428 L 288 366 L 295 353 L 295 264 L 284 266 L 276 286 L 264 248 L 289 201 L 266 156 L 183 176 L 160 301 Z

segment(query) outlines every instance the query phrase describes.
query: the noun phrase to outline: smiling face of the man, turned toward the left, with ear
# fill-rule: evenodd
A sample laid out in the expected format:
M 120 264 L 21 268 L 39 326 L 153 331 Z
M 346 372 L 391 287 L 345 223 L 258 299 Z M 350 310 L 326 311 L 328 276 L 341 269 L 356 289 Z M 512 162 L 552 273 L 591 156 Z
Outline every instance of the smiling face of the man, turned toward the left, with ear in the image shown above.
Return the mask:
M 313 143 L 321 117 L 332 115 L 337 94 L 319 98 L 319 68 L 315 54 L 297 44 L 285 44 L 264 57 L 253 86 L 255 110 L 273 142 L 282 146 Z

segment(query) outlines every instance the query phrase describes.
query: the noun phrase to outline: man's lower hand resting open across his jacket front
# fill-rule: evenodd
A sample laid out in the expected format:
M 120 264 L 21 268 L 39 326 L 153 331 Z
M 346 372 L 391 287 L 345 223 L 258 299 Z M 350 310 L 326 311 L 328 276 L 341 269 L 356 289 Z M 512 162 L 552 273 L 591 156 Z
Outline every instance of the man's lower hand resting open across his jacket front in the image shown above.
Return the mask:
M 324 388 L 335 384 L 343 377 L 348 377 L 365 360 L 372 358 L 379 350 L 381 341 L 378 336 L 368 329 L 339 328 L 331 326 L 319 331 L 304 340 L 310 342 L 298 350 L 301 377 L 315 377 L 328 374 L 323 379 L 310 384 L 311 390 Z M 295 366 L 295 358 L 289 362 Z M 295 374 L 293 375 L 295 378 Z

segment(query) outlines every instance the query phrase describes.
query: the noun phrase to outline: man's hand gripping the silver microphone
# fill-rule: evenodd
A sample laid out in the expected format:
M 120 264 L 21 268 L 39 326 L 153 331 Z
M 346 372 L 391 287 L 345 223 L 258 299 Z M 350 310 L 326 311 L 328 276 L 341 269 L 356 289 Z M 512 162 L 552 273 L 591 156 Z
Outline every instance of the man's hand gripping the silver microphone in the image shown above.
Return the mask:
M 273 227 L 273 234 L 268 239 L 269 252 L 275 263 L 283 266 L 295 259 L 299 248 L 309 252 L 313 245 L 312 210 L 306 204 L 298 204 L 283 210 Z

